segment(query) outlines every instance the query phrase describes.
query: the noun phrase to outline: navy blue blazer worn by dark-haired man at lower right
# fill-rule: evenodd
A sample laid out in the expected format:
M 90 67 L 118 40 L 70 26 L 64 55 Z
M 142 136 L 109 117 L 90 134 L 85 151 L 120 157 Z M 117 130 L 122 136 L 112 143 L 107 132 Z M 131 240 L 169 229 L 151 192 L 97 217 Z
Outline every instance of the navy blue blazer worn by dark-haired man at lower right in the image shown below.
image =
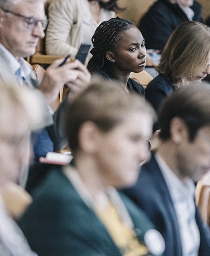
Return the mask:
M 182 256 L 181 238 L 176 213 L 164 177 L 154 155 L 144 164 L 138 182 L 124 192 L 143 209 L 165 239 L 165 256 Z M 200 231 L 198 256 L 210 255 L 210 231 L 196 209 L 196 223 Z

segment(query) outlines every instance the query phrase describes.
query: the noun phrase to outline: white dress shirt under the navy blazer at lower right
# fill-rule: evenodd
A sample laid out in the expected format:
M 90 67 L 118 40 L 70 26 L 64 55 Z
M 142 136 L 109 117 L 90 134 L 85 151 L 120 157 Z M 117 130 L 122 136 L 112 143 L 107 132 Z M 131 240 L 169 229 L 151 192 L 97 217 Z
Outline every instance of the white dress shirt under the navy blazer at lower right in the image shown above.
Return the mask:
M 189 178 L 181 181 L 160 155 L 156 154 L 155 159 L 164 176 L 176 212 L 182 255 L 198 256 L 200 232 L 195 219 L 195 184 Z

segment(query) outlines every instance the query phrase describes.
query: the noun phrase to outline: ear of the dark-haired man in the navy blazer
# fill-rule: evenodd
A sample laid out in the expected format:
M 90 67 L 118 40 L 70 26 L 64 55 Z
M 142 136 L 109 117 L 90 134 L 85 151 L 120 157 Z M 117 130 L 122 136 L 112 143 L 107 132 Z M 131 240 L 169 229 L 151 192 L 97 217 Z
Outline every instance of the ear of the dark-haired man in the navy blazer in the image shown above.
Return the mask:
M 170 122 L 170 138 L 176 144 L 189 139 L 188 127 L 180 117 L 174 117 Z

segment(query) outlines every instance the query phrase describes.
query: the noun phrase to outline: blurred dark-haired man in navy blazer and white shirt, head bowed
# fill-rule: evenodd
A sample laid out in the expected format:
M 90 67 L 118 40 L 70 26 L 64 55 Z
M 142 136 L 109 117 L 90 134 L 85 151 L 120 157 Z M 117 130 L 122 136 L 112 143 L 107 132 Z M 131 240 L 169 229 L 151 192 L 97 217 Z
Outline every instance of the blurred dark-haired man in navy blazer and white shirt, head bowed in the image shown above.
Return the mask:
M 185 86 L 159 113 L 161 145 L 124 192 L 162 233 L 165 256 L 209 256 L 210 232 L 195 206 L 195 185 L 210 170 L 210 87 Z

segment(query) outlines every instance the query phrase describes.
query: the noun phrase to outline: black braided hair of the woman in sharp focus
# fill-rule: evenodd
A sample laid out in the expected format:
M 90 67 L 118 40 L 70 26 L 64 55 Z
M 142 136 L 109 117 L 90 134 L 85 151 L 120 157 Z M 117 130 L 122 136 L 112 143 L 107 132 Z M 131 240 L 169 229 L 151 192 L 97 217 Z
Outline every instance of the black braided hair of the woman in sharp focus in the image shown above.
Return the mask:
M 93 56 L 88 62 L 88 70 L 91 74 L 108 64 L 105 53 L 115 50 L 122 39 L 119 35 L 132 27 L 136 27 L 132 21 L 116 17 L 103 21 L 96 28 L 92 37 L 93 49 L 90 51 Z

